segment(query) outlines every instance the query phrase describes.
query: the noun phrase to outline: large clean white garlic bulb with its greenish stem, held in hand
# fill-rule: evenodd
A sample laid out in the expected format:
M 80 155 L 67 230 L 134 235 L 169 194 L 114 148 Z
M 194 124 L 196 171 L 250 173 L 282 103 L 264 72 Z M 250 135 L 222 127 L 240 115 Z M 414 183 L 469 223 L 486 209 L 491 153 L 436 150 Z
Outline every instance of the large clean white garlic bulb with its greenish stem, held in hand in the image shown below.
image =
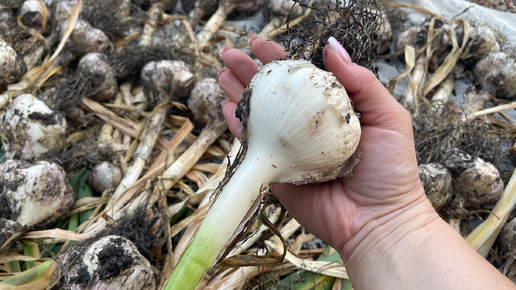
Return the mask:
M 360 124 L 344 87 L 304 60 L 274 61 L 253 77 L 239 104 L 243 149 L 220 195 L 165 289 L 194 289 L 269 183 L 348 176 Z

